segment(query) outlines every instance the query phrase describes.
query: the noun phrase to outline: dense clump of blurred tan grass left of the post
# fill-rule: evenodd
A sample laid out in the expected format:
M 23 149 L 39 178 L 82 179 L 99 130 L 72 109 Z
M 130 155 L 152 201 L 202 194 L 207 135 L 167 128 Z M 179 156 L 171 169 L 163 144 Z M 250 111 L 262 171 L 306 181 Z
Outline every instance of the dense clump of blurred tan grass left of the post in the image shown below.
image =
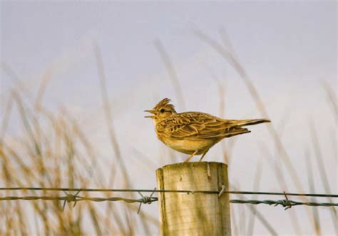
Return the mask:
M 100 76 L 102 80 L 102 74 Z M 81 130 L 81 126 L 64 109 L 51 113 L 43 108 L 42 98 L 47 82 L 48 80 L 43 78 L 32 108 L 29 108 L 21 98 L 26 93 L 21 93 L 20 89 L 14 88 L 9 97 L 1 120 L 1 185 L 41 188 L 61 186 L 88 188 L 89 185 L 94 185 L 97 188 L 105 188 L 103 172 L 100 170 L 100 165 L 96 164 L 95 148 Z M 105 86 L 102 85 L 102 81 L 101 86 Z M 106 92 L 103 90 L 102 93 Z M 111 143 L 116 149 L 116 157 L 114 157 L 116 160 L 120 154 L 118 144 L 114 143 L 108 99 L 105 96 L 103 96 L 103 103 L 106 104 L 107 126 L 111 134 Z M 15 108 L 21 119 L 19 137 L 6 135 L 9 119 Z M 124 176 L 123 185 L 130 188 L 126 168 L 123 169 L 121 163 L 120 166 L 119 169 L 123 170 Z M 116 168 L 116 165 L 113 167 Z M 93 170 L 96 172 L 93 173 Z M 113 170 L 112 173 L 114 172 L 116 171 Z M 24 191 L 22 194 L 29 193 L 33 192 Z M 13 194 L 6 191 L 6 195 Z M 87 194 L 82 193 L 82 195 Z M 110 193 L 105 194 L 111 197 Z M 103 207 L 103 204 L 83 202 L 84 204 L 78 204 L 72 209 L 66 205 L 66 209 L 62 211 L 62 203 L 58 201 L 1 202 L 1 215 L 5 216 L 1 218 L 1 235 L 86 235 L 88 232 L 95 232 L 96 235 L 111 235 L 112 232 L 115 235 L 135 235 L 138 227 L 143 227 L 145 232 L 150 232 L 150 225 L 158 223 L 147 213 L 141 212 L 140 216 L 143 220 L 140 224 L 133 224 L 134 219 L 131 215 L 135 215 L 136 210 L 132 205 L 123 206 L 121 203 L 116 205 L 109 202 L 105 204 L 106 207 Z M 32 215 L 34 217 L 31 217 Z M 89 218 L 84 219 L 84 216 Z

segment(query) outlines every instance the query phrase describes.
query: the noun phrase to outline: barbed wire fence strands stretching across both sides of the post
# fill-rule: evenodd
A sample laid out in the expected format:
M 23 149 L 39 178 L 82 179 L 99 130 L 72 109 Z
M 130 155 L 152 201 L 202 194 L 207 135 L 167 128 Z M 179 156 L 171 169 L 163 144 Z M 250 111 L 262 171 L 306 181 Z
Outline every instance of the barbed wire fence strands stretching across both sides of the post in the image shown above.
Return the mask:
M 209 194 L 217 194 L 218 197 L 220 197 L 224 193 L 229 194 L 255 194 L 255 195 L 284 195 L 284 200 L 230 200 L 230 203 L 236 203 L 236 204 L 252 204 L 252 205 L 258 205 L 258 204 L 267 204 L 267 205 L 282 205 L 285 207 L 285 210 L 290 209 L 292 206 L 295 205 L 307 205 L 307 206 L 322 206 L 322 207 L 337 207 L 338 203 L 334 202 L 297 202 L 293 200 L 288 199 L 288 195 L 296 195 L 296 196 L 312 196 L 312 197 L 338 197 L 338 195 L 326 195 L 326 194 L 312 194 L 312 193 L 268 193 L 268 192 L 246 192 L 246 191 L 225 191 L 225 186 L 222 185 L 222 190 L 220 191 L 204 191 L 204 190 L 123 190 L 123 189 L 89 189 L 89 188 L 0 188 L 0 190 L 11 190 L 11 191 L 17 191 L 17 190 L 45 190 L 45 191 L 63 191 L 65 193 L 65 196 L 48 196 L 48 195 L 31 195 L 31 196 L 6 196 L 6 197 L 0 197 L 1 200 L 62 200 L 63 201 L 63 210 L 66 206 L 66 202 L 74 202 L 73 207 L 75 207 L 76 202 L 83 201 L 83 200 L 89 200 L 93 202 L 115 202 L 115 201 L 123 201 L 127 203 L 140 203 L 138 207 L 138 213 L 140 212 L 140 207 L 142 204 L 151 204 L 152 202 L 158 201 L 158 197 L 153 197 L 154 193 L 209 193 Z M 70 194 L 66 193 L 66 191 L 77 191 L 76 194 Z M 125 198 L 125 197 L 83 197 L 79 196 L 78 193 L 80 192 L 137 192 L 140 195 L 140 198 L 138 199 L 132 199 L 132 198 Z M 143 196 L 142 192 L 152 192 L 150 196 Z

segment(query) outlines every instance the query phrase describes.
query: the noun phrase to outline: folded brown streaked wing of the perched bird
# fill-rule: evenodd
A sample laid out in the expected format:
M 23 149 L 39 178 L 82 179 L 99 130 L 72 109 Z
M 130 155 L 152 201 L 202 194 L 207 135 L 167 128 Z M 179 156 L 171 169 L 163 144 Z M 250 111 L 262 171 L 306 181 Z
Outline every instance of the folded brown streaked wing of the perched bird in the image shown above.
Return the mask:
M 225 138 L 250 132 L 237 126 L 235 120 L 223 120 L 206 113 L 180 113 L 163 120 L 158 130 L 168 138 Z

